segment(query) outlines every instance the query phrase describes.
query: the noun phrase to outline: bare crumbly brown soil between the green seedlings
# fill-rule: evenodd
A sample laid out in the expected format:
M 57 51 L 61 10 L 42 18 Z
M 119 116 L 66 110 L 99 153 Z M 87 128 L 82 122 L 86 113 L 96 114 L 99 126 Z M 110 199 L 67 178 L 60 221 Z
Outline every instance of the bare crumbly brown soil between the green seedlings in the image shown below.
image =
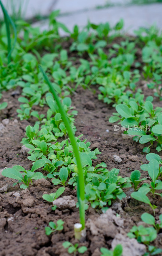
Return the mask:
M 143 89 L 145 96 L 151 95 L 142 83 L 139 87 Z M 94 89 L 96 93 L 93 93 Z M 12 168 L 14 165 L 21 165 L 29 170 L 32 166 L 26 155 L 20 153 L 21 140 L 25 136 L 25 127 L 33 125 L 34 119 L 20 121 L 17 118 L 16 109 L 19 108 L 18 97 L 13 95 L 13 90 L 3 93 L 3 100 L 8 102 L 8 107 L 1 111 L 0 121 L 8 118 L 9 123 L 3 124 L 0 130 L 0 169 Z M 94 165 L 105 162 L 107 169 L 119 168 L 122 177 L 130 176 L 133 170 L 140 170 L 141 164 L 148 163 L 145 154 L 142 152 L 143 145 L 136 143 L 131 138 L 124 139 L 122 132 L 115 132 L 113 125 L 108 119 L 115 112 L 114 108 L 99 101 L 97 98 L 97 87 L 92 90 L 78 88 L 72 95 L 72 104 L 78 111 L 75 117 L 77 128 L 76 136 L 84 134 L 82 139 L 91 142 L 90 148 L 98 148 L 101 151 L 98 158 L 94 160 Z M 160 106 L 157 99 L 154 106 Z M 2 124 L 1 123 L 1 124 Z M 151 153 L 156 153 L 155 148 L 151 148 Z M 115 163 L 113 155 L 120 156 L 121 163 Z M 162 154 L 159 153 L 161 156 Z M 140 170 L 141 171 L 141 170 Z M 141 171 L 141 177 L 146 177 L 146 173 Z M 146 177 L 149 180 L 149 177 Z M 53 186 L 50 179 L 35 181 L 29 189 L 22 190 L 16 185 L 12 187 L 13 180 L 3 177 L 0 171 L 0 188 L 7 185 L 6 191 L 0 194 L 0 256 L 67 256 L 67 249 L 62 243 L 70 241 L 75 244 L 73 225 L 79 221 L 78 208 L 56 209 L 52 211 L 51 203 L 42 199 L 43 194 L 54 193 L 58 186 Z M 141 214 L 149 212 L 152 214 L 147 204 L 138 202 L 130 197 L 133 190 L 125 189 L 127 197 L 122 201 L 113 202 L 111 209 L 113 214 L 120 214 L 122 224 L 115 220 L 105 222 L 106 228 L 95 233 L 92 229 L 96 225 L 97 218 L 102 214 L 89 206 L 86 211 L 87 236 L 80 246 L 87 246 L 88 251 L 83 255 L 100 256 L 101 247 L 111 248 L 112 240 L 116 233 L 122 235 L 129 232 L 133 225 L 140 225 Z M 66 187 L 63 196 L 70 196 L 77 201 L 76 189 L 71 186 Z M 162 214 L 162 198 L 155 196 L 150 198 L 151 203 L 158 206 L 156 209 L 156 220 Z M 115 217 L 114 217 L 115 218 Z M 63 231 L 58 231 L 50 236 L 46 236 L 44 227 L 50 221 L 56 223 L 57 220 L 64 221 Z M 107 220 L 106 220 L 107 221 Z M 143 223 L 142 223 L 143 224 Z M 104 223 L 103 223 L 104 225 Z M 102 229 L 103 228 L 103 229 Z M 114 232 L 112 232 L 114 230 Z M 158 234 L 152 245 L 162 249 L 162 236 Z M 138 255 L 137 255 L 138 256 Z

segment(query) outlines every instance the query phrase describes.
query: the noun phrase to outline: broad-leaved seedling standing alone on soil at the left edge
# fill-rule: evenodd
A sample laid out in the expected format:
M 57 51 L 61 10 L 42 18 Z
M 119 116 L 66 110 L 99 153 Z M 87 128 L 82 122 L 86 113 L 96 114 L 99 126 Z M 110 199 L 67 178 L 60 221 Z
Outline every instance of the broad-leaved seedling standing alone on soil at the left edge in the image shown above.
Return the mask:
M 32 168 L 33 168 L 32 171 L 26 171 L 22 166 L 15 165 L 12 168 L 4 169 L 2 171 L 2 175 L 14 180 L 18 180 L 18 182 L 13 184 L 13 186 L 15 186 L 17 183 L 23 182 L 24 184 L 21 184 L 20 188 L 25 189 L 29 187 L 30 183 L 32 185 L 32 180 L 39 180 L 44 178 L 41 172 L 35 172 L 35 170 L 40 168 L 38 167 L 38 165 L 37 167 L 36 165 L 33 165 Z

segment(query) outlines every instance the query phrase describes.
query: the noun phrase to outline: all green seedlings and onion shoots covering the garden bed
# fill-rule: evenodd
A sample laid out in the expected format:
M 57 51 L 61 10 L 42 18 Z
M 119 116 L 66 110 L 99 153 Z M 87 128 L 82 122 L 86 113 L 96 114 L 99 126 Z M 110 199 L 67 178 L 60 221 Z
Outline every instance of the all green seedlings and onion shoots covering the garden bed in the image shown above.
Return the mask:
M 3 7 L 1 1 L 0 4 Z M 150 148 L 156 143 L 157 152 L 162 150 L 162 108 L 154 108 L 153 97 L 145 99 L 137 85 L 140 80 L 147 80 L 147 87 L 162 100 L 162 34 L 152 26 L 136 31 L 137 37 L 123 36 L 123 20 L 113 28 L 109 23 L 88 23 L 82 31 L 75 26 L 71 33 L 64 24 L 57 22 L 58 11 L 50 15 L 52 29 L 40 33 L 39 28 L 33 28 L 26 21 L 17 20 L 14 25 L 4 7 L 3 12 L 5 23 L 0 34 L 0 98 L 4 90 L 19 86 L 22 95 L 18 99 L 21 103 L 17 109 L 18 117 L 23 120 L 33 116 L 36 121 L 34 126 L 26 127 L 26 135 L 22 139 L 22 144 L 28 148 L 27 158 L 33 164 L 31 170 L 15 165 L 4 169 L 2 175 L 16 180 L 13 186 L 19 184 L 22 189 L 32 186 L 32 180 L 42 178 L 50 178 L 54 186 L 59 184 L 56 193 L 42 196 L 51 202 L 53 211 L 57 206 L 52 202 L 62 195 L 65 186 L 77 187 L 81 231 L 86 228 L 85 211 L 88 207 L 106 212 L 113 200 L 126 197 L 123 189 L 130 187 L 134 188 L 131 197 L 150 205 L 154 215 L 157 206 L 151 204 L 149 195 L 162 197 L 162 160 L 158 154 L 150 153 Z M 9 22 L 14 32 L 12 37 Z M 68 33 L 68 37 L 60 38 L 60 28 Z M 19 36 L 20 31 L 23 37 Z M 119 36 L 121 42 L 114 44 L 113 40 Z M 79 58 L 77 68 L 73 65 L 75 58 L 69 59 L 68 51 L 62 49 L 62 44 L 67 40 L 72 40 L 69 51 Z M 111 48 L 108 48 L 110 44 Z M 142 63 L 137 61 L 137 45 L 141 48 Z M 74 137 L 74 116 L 77 111 L 73 109 L 68 96 L 75 93 L 78 86 L 92 90 L 94 85 L 99 90 L 98 99 L 111 104 L 117 111 L 109 122 L 119 122 L 127 128 L 124 133 L 134 135 L 136 142 L 150 142 L 143 148 L 149 164 L 141 165 L 141 169 L 147 172 L 146 176 L 150 176 L 151 182 L 141 179 L 138 170 L 133 171 L 130 177 L 123 178 L 119 176 L 119 169 L 109 171 L 105 163 L 93 166 L 93 159 L 101 152 L 97 148 L 91 150 L 90 142 L 81 140 L 82 134 Z M 39 113 L 33 109 L 35 106 L 46 106 L 47 113 Z M 0 110 L 6 107 L 6 102 L 0 104 Z M 39 168 L 46 171 L 46 175 L 43 175 L 45 172 L 38 172 Z M 162 215 L 158 223 L 153 215 L 143 213 L 141 216 L 150 227 L 134 226 L 127 234 L 147 245 L 148 252 L 144 256 L 162 252 L 150 245 L 162 228 Z M 63 228 L 64 221 L 58 220 L 57 223 L 49 222 L 45 232 L 50 236 Z M 73 245 L 68 241 L 63 246 L 74 255 L 87 250 L 85 246 Z M 121 255 L 120 244 L 113 251 L 101 248 L 101 256 Z

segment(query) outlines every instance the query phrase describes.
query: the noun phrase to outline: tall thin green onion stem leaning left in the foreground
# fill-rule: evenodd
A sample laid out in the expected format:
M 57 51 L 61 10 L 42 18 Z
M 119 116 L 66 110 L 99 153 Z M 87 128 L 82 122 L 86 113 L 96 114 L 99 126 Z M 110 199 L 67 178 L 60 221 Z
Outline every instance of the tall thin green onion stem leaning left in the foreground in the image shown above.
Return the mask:
M 73 134 L 73 130 L 71 128 L 71 125 L 69 123 L 69 119 L 66 115 L 66 112 L 58 98 L 57 93 L 54 90 L 54 87 L 52 86 L 52 84 L 50 83 L 50 80 L 48 78 L 48 76 L 45 74 L 44 70 L 42 69 L 41 66 L 39 66 L 44 79 L 46 81 L 46 83 L 48 84 L 49 88 L 50 88 L 50 92 L 53 94 L 54 99 L 56 100 L 56 103 L 58 105 L 59 108 L 59 112 L 64 120 L 64 124 L 66 126 L 66 129 L 68 131 L 68 135 L 71 141 L 71 144 L 73 146 L 73 150 L 74 150 L 74 154 L 76 157 L 76 162 L 77 162 L 77 167 L 78 167 L 78 189 L 77 189 L 77 196 L 78 196 L 78 202 L 79 202 L 79 212 L 80 212 L 80 222 L 82 224 L 82 228 L 85 228 L 85 210 L 84 210 L 84 176 L 83 176 L 83 169 L 82 169 L 82 165 L 81 165 L 81 158 L 80 158 L 80 154 L 79 154 L 79 150 L 75 141 L 75 136 Z

